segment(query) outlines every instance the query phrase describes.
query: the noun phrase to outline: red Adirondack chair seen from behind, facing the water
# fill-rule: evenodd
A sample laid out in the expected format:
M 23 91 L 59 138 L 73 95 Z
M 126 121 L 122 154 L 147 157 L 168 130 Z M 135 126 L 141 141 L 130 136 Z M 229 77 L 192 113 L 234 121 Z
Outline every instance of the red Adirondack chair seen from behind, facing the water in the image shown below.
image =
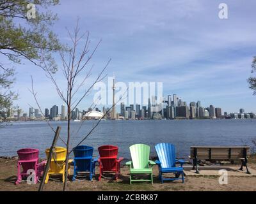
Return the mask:
M 117 159 L 118 147 L 113 145 L 102 145 L 98 148 L 100 157 L 98 159 L 100 175 L 99 180 L 101 179 L 104 171 L 114 172 L 115 179 L 117 179 L 121 174 L 120 163 L 124 157 L 119 157 Z

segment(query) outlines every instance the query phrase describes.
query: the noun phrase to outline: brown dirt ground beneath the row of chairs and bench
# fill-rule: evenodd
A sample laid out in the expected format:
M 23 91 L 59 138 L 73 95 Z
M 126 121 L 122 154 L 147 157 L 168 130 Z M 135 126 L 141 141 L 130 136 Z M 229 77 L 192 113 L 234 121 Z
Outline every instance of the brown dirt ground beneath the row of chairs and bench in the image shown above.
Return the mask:
M 39 184 L 28 185 L 26 182 L 21 182 L 19 185 L 15 185 L 16 166 L 17 158 L 0 159 L 0 191 L 36 191 Z M 256 156 L 250 159 L 248 166 L 256 170 Z M 255 176 L 230 176 L 227 185 L 219 184 L 219 175 L 186 176 L 184 184 L 181 180 L 166 181 L 161 184 L 157 178 L 157 166 L 154 166 L 153 185 L 137 182 L 131 186 L 129 185 L 129 169 L 126 166 L 122 166 L 121 177 L 118 180 L 102 178 L 98 181 L 97 173 L 99 173 L 98 168 L 96 168 L 96 176 L 93 177 L 92 181 L 76 180 L 72 182 L 69 180 L 68 191 L 256 191 Z M 61 180 L 49 180 L 48 184 L 45 184 L 44 191 L 61 191 L 62 186 Z

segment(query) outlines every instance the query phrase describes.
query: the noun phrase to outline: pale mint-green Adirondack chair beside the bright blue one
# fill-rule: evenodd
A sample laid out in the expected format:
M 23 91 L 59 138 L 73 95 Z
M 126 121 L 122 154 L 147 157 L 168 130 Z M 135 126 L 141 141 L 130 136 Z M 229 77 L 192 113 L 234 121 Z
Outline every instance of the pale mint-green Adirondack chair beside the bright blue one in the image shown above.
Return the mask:
M 132 182 L 151 182 L 153 184 L 152 166 L 156 163 L 149 160 L 150 147 L 144 144 L 135 144 L 130 148 L 132 161 L 127 161 L 130 168 L 130 184 Z M 134 179 L 134 175 L 149 174 L 149 179 Z

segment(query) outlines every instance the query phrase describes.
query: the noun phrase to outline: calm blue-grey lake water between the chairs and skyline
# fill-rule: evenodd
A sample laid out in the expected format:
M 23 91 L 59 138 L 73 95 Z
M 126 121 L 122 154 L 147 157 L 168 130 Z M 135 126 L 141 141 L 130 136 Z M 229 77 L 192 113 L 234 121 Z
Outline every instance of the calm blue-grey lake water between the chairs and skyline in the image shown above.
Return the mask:
M 83 138 L 97 121 L 72 122 L 72 146 Z M 61 126 L 61 138 L 67 133 L 66 122 L 51 122 L 53 128 Z M 150 145 L 152 156 L 154 145 L 170 142 L 176 145 L 178 157 L 189 155 L 191 145 L 250 145 L 256 138 L 256 119 L 252 120 L 104 120 L 83 144 L 95 148 L 100 145 L 118 145 L 119 156 L 130 158 L 129 146 L 134 143 Z M 15 122 L 0 129 L 0 156 L 16 156 L 16 151 L 25 147 L 44 150 L 51 146 L 54 133 L 44 121 Z M 59 140 L 58 145 L 63 146 Z

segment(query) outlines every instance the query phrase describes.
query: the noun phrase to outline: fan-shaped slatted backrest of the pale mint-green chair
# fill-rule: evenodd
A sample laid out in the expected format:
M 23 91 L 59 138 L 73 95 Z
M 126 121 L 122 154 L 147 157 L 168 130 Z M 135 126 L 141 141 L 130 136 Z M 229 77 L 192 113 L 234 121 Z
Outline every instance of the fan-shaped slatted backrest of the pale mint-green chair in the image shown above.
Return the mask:
M 145 144 L 135 144 L 130 147 L 132 165 L 135 169 L 148 168 L 150 147 Z

